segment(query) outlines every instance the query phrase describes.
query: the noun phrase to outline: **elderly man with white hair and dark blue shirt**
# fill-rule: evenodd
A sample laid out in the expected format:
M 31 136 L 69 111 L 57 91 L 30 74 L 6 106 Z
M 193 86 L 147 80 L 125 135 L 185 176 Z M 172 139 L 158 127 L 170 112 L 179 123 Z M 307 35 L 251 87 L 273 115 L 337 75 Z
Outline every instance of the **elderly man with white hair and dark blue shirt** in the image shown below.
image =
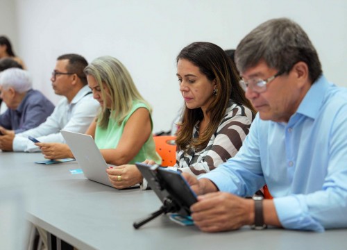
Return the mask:
M 0 126 L 21 133 L 35 128 L 51 115 L 54 105 L 37 90 L 33 90 L 30 74 L 10 68 L 0 74 L 0 98 L 8 110 L 0 115 Z

